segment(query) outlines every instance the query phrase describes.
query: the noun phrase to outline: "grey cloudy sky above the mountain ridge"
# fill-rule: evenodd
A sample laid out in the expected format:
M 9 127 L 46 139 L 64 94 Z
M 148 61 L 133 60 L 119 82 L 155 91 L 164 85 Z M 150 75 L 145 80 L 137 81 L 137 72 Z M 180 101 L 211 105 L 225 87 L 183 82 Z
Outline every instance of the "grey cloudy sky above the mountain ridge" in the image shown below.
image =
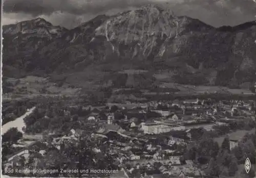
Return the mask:
M 215 27 L 256 20 L 256 0 L 4 0 L 2 22 L 43 17 L 70 29 L 99 14 L 112 15 L 146 4 L 169 6 L 177 15 L 198 18 Z

